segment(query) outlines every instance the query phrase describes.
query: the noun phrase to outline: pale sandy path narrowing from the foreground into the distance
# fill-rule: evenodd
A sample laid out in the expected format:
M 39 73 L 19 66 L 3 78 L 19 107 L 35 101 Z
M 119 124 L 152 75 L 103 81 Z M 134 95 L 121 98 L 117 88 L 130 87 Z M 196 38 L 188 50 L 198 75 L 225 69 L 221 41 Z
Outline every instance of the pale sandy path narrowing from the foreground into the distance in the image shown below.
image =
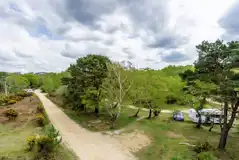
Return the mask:
M 116 139 L 82 128 L 39 90 L 35 93 L 42 101 L 51 123 L 60 131 L 63 142 L 81 160 L 136 160 Z

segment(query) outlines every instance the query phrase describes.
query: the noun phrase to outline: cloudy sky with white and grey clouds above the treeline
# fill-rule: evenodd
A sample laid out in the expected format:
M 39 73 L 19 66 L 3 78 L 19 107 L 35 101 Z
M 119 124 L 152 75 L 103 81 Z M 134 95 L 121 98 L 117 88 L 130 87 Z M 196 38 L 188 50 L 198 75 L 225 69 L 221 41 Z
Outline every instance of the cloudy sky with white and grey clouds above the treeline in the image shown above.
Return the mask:
M 239 0 L 1 0 L 0 70 L 60 72 L 87 54 L 137 68 L 193 64 L 239 40 Z

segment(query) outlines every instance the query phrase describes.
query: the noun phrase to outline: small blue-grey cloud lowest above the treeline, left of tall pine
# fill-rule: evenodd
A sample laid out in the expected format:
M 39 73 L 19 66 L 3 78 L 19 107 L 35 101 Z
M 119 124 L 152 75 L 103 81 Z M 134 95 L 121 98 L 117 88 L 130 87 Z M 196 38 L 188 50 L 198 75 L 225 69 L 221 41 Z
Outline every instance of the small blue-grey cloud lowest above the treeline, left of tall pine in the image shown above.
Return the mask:
M 167 63 L 175 63 L 189 60 L 189 57 L 180 52 L 173 51 L 169 54 L 163 54 L 161 56 L 161 59 L 162 61 Z

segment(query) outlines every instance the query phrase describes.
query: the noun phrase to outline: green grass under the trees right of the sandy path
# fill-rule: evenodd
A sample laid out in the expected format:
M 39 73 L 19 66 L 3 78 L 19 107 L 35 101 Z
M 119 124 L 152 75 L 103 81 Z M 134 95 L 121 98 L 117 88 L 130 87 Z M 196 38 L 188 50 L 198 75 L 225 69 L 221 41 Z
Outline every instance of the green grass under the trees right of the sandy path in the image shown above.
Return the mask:
M 171 106 L 171 105 L 170 105 Z M 171 107 L 178 109 L 175 105 Z M 89 126 L 88 121 L 100 119 L 102 122 L 107 120 L 107 114 L 101 114 L 99 117 L 93 114 L 76 113 L 70 109 L 64 109 L 64 112 L 75 122 L 85 128 L 93 131 L 104 131 L 109 129 L 107 124 L 96 124 Z M 212 132 L 209 132 L 208 126 L 202 129 L 195 128 L 195 124 L 189 120 L 185 114 L 185 122 L 176 122 L 172 120 L 172 114 L 161 113 L 158 118 L 151 120 L 143 119 L 136 121 L 135 118 L 129 118 L 136 112 L 134 109 L 124 108 L 117 120 L 116 129 L 124 128 L 125 132 L 134 130 L 142 130 L 150 137 L 152 143 L 135 153 L 139 160 L 196 160 L 196 153 L 192 148 L 186 145 L 180 145 L 180 142 L 189 144 L 197 144 L 208 141 L 215 150 L 212 153 L 220 157 L 220 160 L 236 160 L 239 159 L 239 133 L 237 128 L 232 128 L 228 137 L 227 150 L 219 152 L 216 150 L 220 138 L 220 127 L 215 125 Z M 148 112 L 140 111 L 139 116 L 148 116 Z M 109 124 L 108 124 L 109 125 Z M 173 136 L 172 136 L 173 135 Z

